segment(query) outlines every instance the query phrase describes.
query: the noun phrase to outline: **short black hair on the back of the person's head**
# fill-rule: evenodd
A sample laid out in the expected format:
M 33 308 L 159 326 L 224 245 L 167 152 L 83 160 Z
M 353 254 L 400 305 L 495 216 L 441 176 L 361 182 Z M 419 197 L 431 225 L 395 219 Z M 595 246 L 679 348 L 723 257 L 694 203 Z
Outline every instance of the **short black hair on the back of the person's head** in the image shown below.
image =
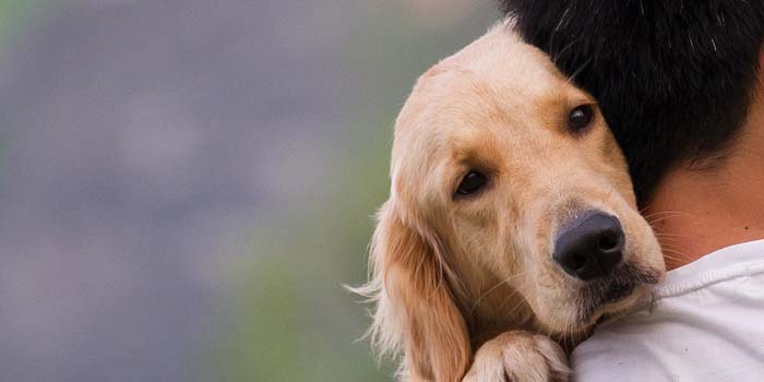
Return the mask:
M 600 104 L 644 204 L 671 168 L 729 155 L 756 88 L 764 1 L 502 0 Z

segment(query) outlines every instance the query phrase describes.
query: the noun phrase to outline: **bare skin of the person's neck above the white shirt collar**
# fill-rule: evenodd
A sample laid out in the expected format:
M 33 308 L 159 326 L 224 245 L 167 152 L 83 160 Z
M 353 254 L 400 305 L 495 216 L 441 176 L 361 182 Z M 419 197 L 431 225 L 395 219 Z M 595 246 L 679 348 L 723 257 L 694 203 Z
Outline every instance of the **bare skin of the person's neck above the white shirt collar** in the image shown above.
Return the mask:
M 764 81 L 759 81 L 730 155 L 712 169 L 682 166 L 660 181 L 644 210 L 666 267 L 715 250 L 764 239 Z

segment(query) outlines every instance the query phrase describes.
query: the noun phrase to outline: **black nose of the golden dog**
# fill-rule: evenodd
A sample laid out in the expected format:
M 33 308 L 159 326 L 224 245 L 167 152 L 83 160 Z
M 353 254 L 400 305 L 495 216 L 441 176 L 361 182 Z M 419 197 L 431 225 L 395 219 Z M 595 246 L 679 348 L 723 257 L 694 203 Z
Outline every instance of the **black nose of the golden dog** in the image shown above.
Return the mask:
M 621 262 L 623 229 L 617 218 L 587 211 L 571 222 L 554 242 L 554 261 L 571 276 L 605 277 Z

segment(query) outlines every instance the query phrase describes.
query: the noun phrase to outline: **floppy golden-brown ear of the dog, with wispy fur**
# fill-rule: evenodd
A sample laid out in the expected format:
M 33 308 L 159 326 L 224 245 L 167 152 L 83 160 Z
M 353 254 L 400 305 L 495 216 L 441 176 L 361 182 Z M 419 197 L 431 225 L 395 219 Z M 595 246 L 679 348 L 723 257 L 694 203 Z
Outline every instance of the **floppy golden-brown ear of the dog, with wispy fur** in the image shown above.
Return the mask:
M 471 350 L 452 287 L 444 248 L 395 201 L 381 208 L 371 246 L 377 300 L 372 336 L 381 350 L 405 354 L 410 380 L 461 381 Z M 367 290 L 370 291 L 370 290 Z

